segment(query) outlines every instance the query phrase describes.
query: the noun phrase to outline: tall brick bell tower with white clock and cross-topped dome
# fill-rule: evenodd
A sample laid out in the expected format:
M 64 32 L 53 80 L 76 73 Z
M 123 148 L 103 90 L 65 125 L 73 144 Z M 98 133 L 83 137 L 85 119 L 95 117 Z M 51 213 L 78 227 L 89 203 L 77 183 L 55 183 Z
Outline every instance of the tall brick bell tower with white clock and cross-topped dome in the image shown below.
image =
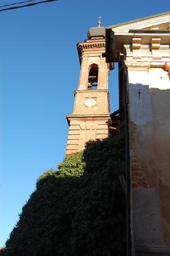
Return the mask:
M 110 101 L 108 75 L 110 65 L 105 63 L 105 28 L 91 27 L 88 39 L 77 43 L 80 60 L 79 87 L 74 91 L 72 115 L 66 115 L 69 124 L 66 155 L 81 151 L 89 140 L 108 137 Z

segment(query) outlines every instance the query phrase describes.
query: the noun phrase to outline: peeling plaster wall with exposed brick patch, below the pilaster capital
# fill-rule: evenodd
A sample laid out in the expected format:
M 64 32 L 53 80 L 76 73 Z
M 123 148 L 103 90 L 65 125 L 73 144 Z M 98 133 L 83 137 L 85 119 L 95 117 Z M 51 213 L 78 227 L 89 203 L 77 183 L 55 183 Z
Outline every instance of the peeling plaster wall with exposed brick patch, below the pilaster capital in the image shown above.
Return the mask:
M 128 70 L 136 245 L 170 245 L 170 82 L 163 68 Z

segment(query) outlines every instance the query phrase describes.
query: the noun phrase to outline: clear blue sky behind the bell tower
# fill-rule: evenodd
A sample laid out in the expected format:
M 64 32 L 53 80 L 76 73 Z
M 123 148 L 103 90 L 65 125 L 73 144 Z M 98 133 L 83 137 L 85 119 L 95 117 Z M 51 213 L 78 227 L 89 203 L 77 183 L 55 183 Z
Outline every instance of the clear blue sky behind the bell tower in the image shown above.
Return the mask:
M 17 0 L 0 1 L 0 5 Z M 169 1 L 58 0 L 0 12 L 0 246 L 45 170 L 65 156 L 79 82 L 76 43 L 89 27 L 168 11 Z M 117 70 L 110 74 L 111 111 L 118 108 Z

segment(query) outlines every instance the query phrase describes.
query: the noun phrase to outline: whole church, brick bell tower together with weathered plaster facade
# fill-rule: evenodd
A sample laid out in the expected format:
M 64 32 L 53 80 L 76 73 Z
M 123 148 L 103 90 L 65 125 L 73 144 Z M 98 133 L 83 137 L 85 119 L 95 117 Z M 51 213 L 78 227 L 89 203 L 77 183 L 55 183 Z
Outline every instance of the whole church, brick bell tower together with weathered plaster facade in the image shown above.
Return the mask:
M 126 126 L 127 255 L 170 255 L 170 12 L 98 25 L 77 44 L 80 79 L 73 113 L 66 116 L 66 154 L 116 130 L 108 75 L 118 63 Z

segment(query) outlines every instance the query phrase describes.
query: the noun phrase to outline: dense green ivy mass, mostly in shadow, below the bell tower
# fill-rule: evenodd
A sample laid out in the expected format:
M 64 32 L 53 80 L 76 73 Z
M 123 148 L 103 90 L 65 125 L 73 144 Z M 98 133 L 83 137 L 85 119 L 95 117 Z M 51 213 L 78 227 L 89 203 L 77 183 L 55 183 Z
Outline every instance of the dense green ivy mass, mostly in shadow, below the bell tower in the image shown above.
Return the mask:
M 9 256 L 124 256 L 124 133 L 90 141 L 37 180 L 6 242 Z

